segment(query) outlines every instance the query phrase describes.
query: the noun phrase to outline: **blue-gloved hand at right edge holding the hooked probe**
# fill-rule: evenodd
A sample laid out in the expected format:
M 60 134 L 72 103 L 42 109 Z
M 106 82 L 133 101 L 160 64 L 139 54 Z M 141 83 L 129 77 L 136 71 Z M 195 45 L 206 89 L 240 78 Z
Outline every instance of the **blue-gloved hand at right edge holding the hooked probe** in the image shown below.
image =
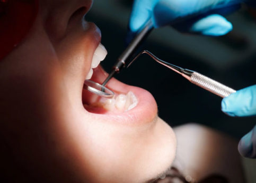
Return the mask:
M 256 85 L 224 98 L 222 111 L 232 117 L 256 115 Z M 238 149 L 242 156 L 256 158 L 256 126 L 240 140 Z

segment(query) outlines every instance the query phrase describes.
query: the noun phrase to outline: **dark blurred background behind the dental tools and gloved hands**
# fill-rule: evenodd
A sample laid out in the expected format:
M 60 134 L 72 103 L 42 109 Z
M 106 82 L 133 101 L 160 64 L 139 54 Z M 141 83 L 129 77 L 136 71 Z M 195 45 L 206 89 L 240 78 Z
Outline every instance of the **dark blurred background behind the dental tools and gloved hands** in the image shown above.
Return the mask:
M 127 27 L 133 1 L 94 1 L 87 21 L 96 23 L 108 50 L 101 63 L 110 72 L 125 49 Z M 256 84 L 256 23 L 242 7 L 226 17 L 234 30 L 221 37 L 182 34 L 166 26 L 153 30 L 142 46 L 157 57 L 195 70 L 235 90 Z M 151 92 L 159 115 L 172 127 L 196 122 L 239 139 L 255 125 L 255 117 L 232 118 L 220 109 L 222 98 L 191 84 L 179 74 L 142 55 L 115 76 L 118 80 Z

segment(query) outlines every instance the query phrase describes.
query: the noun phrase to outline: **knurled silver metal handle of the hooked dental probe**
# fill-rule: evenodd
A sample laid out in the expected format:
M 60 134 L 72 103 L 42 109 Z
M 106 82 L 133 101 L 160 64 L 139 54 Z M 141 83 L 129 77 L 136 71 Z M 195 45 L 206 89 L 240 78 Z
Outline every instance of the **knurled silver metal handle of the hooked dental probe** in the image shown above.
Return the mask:
M 225 86 L 213 79 L 208 78 L 205 75 L 202 75 L 198 72 L 193 72 L 190 78 L 191 83 L 200 86 L 201 88 L 208 90 L 211 93 L 218 95 L 219 97 L 225 98 L 231 93 L 236 91 L 232 88 Z

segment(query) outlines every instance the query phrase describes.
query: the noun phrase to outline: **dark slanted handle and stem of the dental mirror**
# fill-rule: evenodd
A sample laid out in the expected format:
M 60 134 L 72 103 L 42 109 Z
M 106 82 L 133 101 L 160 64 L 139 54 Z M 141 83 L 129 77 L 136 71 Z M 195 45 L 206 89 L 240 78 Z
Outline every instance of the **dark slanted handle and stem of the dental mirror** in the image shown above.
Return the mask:
M 151 19 L 149 19 L 149 21 L 147 21 L 147 23 L 144 25 L 142 31 L 138 31 L 139 33 L 130 42 L 125 51 L 123 51 L 122 54 L 119 56 L 116 64 L 114 64 L 113 66 L 112 72 L 109 74 L 108 78 L 105 79 L 105 81 L 102 83 L 103 86 L 107 84 L 107 82 L 113 77 L 114 74 L 120 72 L 120 70 L 125 66 L 127 60 L 131 59 L 131 56 L 133 56 L 134 52 L 137 50 L 137 47 L 140 45 L 140 43 L 142 43 L 144 38 L 147 37 L 152 29 L 153 22 Z

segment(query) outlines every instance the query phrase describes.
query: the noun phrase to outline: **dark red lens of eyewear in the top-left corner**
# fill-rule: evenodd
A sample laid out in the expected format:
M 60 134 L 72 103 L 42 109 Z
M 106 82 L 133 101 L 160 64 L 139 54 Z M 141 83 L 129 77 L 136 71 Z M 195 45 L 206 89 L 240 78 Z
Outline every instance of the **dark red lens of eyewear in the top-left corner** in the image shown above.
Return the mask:
M 6 1 L 1 5 L 0 60 L 27 35 L 38 13 L 37 1 Z

